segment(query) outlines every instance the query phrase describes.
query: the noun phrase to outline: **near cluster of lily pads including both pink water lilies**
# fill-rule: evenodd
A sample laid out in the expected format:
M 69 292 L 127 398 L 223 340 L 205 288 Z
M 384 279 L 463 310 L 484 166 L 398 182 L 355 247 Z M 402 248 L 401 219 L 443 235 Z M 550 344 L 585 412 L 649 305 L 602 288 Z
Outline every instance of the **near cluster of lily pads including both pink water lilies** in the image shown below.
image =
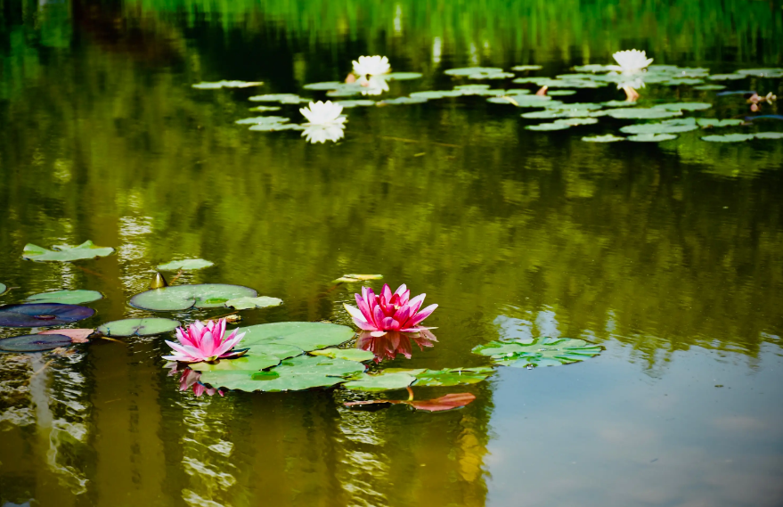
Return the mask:
M 72 247 L 45 249 L 27 245 L 22 257 L 29 260 L 73 262 L 110 255 L 114 249 L 97 247 L 92 241 Z M 213 266 L 204 259 L 181 259 L 157 266 L 161 271 L 203 269 Z M 364 283 L 382 278 L 379 274 L 346 274 L 335 282 Z M 167 285 L 156 277 L 151 290 L 129 300 L 132 307 L 151 312 L 182 312 L 192 308 L 243 310 L 281 305 L 279 298 L 259 297 L 256 290 L 240 285 L 201 283 Z M 0 295 L 8 288 L 0 283 Z M 62 328 L 0 339 L 5 352 L 63 350 L 99 337 L 118 339 L 151 336 L 176 331 L 177 342 L 167 341 L 173 350 L 165 356 L 173 374 L 181 374 L 180 388 L 197 395 L 224 394 L 224 389 L 278 392 L 342 386 L 355 391 L 379 392 L 407 389 L 407 400 L 377 399 L 347 405 L 409 405 L 430 412 L 469 404 L 475 396 L 452 393 L 428 400 L 413 399 L 413 387 L 474 384 L 493 373 L 492 367 L 445 369 L 380 369 L 379 364 L 398 355 L 411 357 L 412 344 L 432 347 L 436 337 L 421 322 L 437 305 L 421 308 L 425 295 L 411 297 L 402 285 L 392 292 L 387 285 L 379 294 L 363 287 L 356 294 L 357 307 L 346 305 L 348 315 L 362 331 L 336 323 L 283 322 L 237 328 L 228 334 L 225 319 L 190 324 L 186 328 L 169 318 L 142 317 L 102 323 L 96 329 Z M 95 315 L 85 303 L 97 301 L 95 290 L 55 290 L 29 296 L 24 301 L 0 306 L 0 326 L 51 328 Z M 582 361 L 598 355 L 601 348 L 575 339 L 494 341 L 474 352 L 490 356 L 498 365 L 551 366 Z

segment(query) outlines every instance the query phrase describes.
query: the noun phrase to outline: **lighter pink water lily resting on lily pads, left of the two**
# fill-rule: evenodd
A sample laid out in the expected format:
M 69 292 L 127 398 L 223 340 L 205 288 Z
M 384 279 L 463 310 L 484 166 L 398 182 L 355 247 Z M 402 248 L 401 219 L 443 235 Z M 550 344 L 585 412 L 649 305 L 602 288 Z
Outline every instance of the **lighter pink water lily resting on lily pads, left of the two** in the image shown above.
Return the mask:
M 163 358 L 180 363 L 200 363 L 239 357 L 247 352 L 247 349 L 232 350 L 245 333 L 237 335 L 237 330 L 234 330 L 228 338 L 224 338 L 224 334 L 225 319 L 220 319 L 217 323 L 208 321 L 206 324 L 196 321 L 188 326 L 187 331 L 181 327 L 176 328 L 179 343 L 166 341 L 168 347 L 174 349 L 175 355 Z

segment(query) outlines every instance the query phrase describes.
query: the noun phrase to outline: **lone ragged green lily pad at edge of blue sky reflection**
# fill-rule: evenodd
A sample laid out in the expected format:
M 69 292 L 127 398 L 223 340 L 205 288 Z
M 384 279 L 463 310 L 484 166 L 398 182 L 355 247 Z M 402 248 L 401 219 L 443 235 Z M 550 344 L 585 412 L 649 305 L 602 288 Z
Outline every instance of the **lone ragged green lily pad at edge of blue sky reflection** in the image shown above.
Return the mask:
M 520 341 L 491 341 L 473 348 L 475 354 L 490 356 L 496 364 L 526 366 L 559 366 L 598 356 L 601 348 L 583 339 L 536 338 Z

